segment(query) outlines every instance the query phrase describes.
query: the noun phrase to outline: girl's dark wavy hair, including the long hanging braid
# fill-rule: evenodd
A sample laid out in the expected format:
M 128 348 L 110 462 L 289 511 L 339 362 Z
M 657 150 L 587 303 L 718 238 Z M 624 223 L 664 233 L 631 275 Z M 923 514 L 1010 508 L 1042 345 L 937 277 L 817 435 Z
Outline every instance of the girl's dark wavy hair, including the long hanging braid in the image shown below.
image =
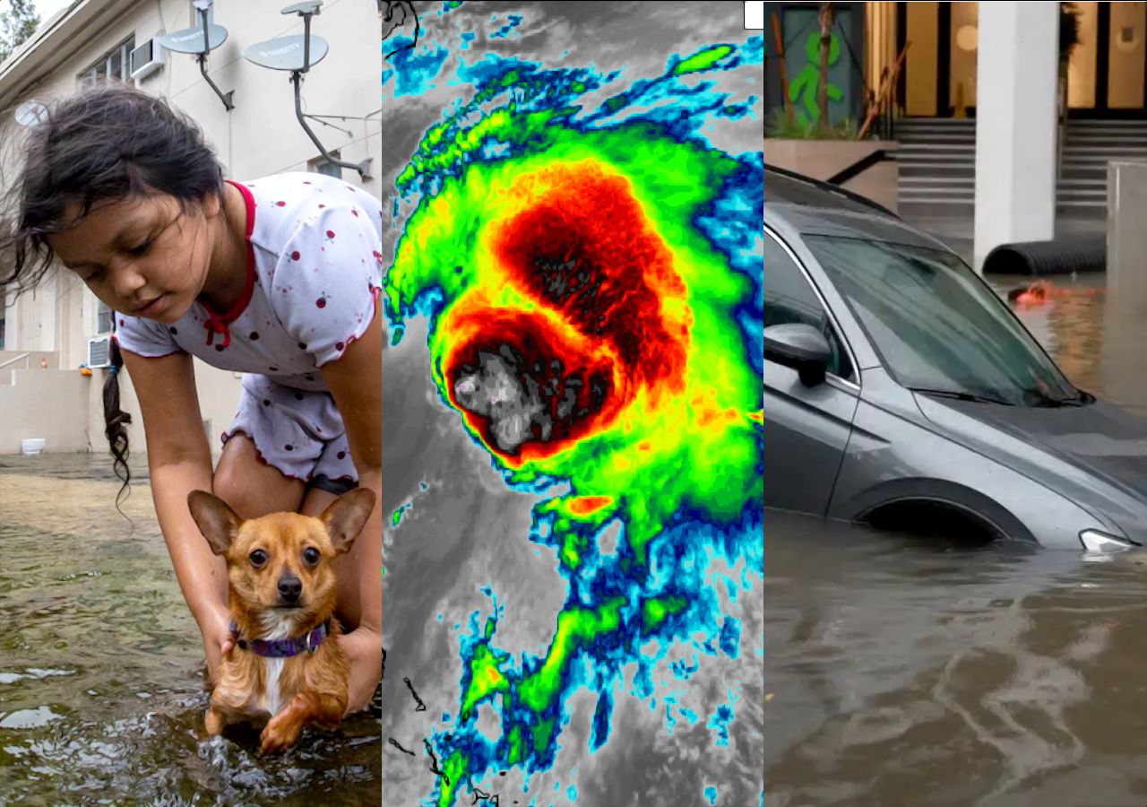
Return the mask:
M 122 84 L 103 84 L 61 99 L 28 132 L 21 173 L 0 211 L 0 287 L 34 288 L 53 269 L 47 236 L 76 226 L 104 202 L 149 195 L 175 197 L 186 210 L 214 194 L 223 166 L 203 131 L 162 99 Z M 78 204 L 78 215 L 67 218 Z M 123 358 L 112 339 L 103 386 L 104 434 L 116 475 L 131 481 L 127 425 L 119 406 Z

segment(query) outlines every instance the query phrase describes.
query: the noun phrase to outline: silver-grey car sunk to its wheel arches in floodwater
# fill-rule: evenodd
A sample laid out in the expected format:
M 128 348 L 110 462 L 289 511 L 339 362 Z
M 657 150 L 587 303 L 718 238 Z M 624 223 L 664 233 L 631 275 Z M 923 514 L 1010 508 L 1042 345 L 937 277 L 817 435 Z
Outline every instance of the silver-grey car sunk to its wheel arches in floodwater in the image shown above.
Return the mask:
M 1076 389 L 959 256 L 765 169 L 765 505 L 880 529 L 1147 544 L 1147 424 Z

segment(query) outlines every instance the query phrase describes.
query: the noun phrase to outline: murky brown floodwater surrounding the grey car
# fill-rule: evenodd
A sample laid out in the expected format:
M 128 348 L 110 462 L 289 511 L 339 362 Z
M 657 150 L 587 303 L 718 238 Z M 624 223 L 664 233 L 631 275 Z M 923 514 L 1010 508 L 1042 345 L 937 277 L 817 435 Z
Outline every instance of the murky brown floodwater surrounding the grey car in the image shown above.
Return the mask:
M 1147 417 L 1147 317 L 1102 277 L 1056 287 L 1021 318 Z M 1147 552 L 766 525 L 771 807 L 1147 805 Z

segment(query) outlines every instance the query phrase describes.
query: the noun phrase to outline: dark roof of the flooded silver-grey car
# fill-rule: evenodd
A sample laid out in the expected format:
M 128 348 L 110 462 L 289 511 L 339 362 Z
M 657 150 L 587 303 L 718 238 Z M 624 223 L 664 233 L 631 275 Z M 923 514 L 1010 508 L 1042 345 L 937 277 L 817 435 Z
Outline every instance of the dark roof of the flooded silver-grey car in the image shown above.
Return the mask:
M 801 235 L 835 235 L 931 249 L 946 247 L 859 194 L 772 165 L 765 166 L 765 222 Z

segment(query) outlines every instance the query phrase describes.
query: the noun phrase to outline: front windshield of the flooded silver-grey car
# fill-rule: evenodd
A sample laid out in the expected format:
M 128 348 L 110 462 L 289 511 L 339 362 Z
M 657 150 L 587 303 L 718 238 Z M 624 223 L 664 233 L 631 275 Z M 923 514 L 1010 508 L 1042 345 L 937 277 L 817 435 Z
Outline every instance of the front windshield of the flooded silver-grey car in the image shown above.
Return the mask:
M 806 243 L 902 386 L 1021 405 L 1079 398 L 957 256 L 822 235 Z

